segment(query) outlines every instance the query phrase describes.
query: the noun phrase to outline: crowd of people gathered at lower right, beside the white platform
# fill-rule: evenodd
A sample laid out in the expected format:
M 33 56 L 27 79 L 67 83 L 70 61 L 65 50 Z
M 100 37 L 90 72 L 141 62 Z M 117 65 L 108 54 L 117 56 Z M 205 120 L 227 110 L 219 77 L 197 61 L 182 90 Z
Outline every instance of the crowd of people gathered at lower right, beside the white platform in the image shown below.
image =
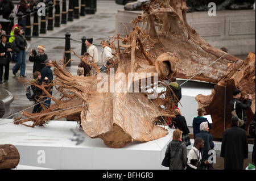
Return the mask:
M 175 85 L 175 82 L 170 83 L 170 89 L 174 89 L 173 85 Z M 176 85 L 176 90 L 172 91 L 172 94 L 177 94 L 180 97 L 181 88 L 179 87 L 179 91 L 177 91 L 178 87 Z M 251 107 L 251 95 L 247 94 L 245 99 L 240 100 L 241 92 L 241 90 L 233 90 L 230 108 L 236 114 L 232 114 L 233 117 L 230 120 L 232 127 L 226 129 L 222 137 L 220 157 L 224 158 L 225 170 L 242 170 L 243 160 L 248 158 L 245 125 L 247 123 L 246 110 Z M 191 142 L 185 117 L 181 116 L 177 106 L 175 106 L 174 112 L 176 117 L 172 119 L 173 124 L 170 124 L 169 127 L 175 128 L 175 131 L 172 135 L 172 141 L 167 145 L 162 165 L 169 167 L 170 170 L 213 170 L 213 157 L 214 153 L 216 153 L 214 151 L 215 145 L 213 136 L 209 132 L 212 129 L 212 125 L 204 117 L 204 108 L 198 108 L 197 116 L 193 119 L 194 144 L 188 153 L 187 146 L 191 145 Z M 253 132 L 250 134 L 254 137 L 251 163 L 255 169 L 255 113 L 250 127 L 253 127 Z

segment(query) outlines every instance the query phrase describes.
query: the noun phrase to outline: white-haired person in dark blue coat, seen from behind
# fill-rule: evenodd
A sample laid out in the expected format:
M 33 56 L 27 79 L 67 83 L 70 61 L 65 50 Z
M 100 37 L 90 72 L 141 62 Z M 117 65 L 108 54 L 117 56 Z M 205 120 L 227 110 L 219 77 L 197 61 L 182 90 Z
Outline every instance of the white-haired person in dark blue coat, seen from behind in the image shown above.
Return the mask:
M 208 151 L 214 148 L 214 142 L 212 141 L 212 134 L 209 133 L 208 121 L 204 121 L 200 124 L 200 133 L 195 135 L 196 137 L 201 137 L 204 140 L 204 148 L 203 148 L 203 157 L 202 161 L 208 160 Z M 203 169 L 213 169 L 212 164 L 208 164 Z

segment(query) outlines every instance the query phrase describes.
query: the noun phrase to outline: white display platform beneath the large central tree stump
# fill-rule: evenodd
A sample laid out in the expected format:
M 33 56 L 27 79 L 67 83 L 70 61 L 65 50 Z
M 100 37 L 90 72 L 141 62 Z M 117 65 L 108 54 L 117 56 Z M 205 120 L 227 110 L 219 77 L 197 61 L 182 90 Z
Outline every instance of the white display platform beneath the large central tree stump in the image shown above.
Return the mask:
M 15 125 L 11 119 L 0 119 L 0 144 L 14 145 L 20 154 L 19 165 L 42 169 L 168 169 L 161 166 L 164 152 L 172 139 L 166 137 L 149 142 L 133 142 L 125 148 L 112 149 L 100 138 L 90 138 L 75 121 L 49 121 L 44 127 Z M 76 145 L 71 141 L 76 130 L 85 137 Z

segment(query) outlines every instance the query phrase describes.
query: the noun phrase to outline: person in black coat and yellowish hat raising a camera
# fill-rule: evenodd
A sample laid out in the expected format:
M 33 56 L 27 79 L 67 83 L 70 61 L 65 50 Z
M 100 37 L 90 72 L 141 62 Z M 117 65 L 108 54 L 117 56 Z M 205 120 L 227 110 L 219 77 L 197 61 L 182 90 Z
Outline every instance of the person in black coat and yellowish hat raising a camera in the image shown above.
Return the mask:
M 48 59 L 47 54 L 44 53 L 45 51 L 46 48 L 43 45 L 38 46 L 38 53 L 36 53 L 35 49 L 31 49 L 28 60 L 34 62 L 33 73 L 35 71 L 40 72 L 44 68 L 44 61 Z

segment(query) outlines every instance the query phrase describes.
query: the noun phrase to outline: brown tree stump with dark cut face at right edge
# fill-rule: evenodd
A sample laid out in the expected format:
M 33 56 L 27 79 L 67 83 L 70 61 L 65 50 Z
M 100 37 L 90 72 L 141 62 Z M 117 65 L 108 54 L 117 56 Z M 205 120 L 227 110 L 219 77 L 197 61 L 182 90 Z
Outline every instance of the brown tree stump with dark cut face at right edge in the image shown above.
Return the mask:
M 232 114 L 229 102 L 233 98 L 232 92 L 234 89 L 242 90 L 241 100 L 245 98 L 246 94 L 251 94 L 252 97 L 251 108 L 250 110 L 246 110 L 248 120 L 246 124 L 247 131 L 253 113 L 255 113 L 254 53 L 250 52 L 244 61 L 238 61 L 236 64 L 229 64 L 225 75 L 223 75 L 217 85 L 214 86 L 212 94 L 207 96 L 200 94 L 196 96 L 199 107 L 204 107 L 207 114 L 212 116 L 213 124 L 210 133 L 215 138 L 222 138 L 225 129 L 231 127 L 230 119 L 232 118 Z M 226 101 L 224 99 L 225 97 Z M 225 113 L 224 110 L 226 110 Z

